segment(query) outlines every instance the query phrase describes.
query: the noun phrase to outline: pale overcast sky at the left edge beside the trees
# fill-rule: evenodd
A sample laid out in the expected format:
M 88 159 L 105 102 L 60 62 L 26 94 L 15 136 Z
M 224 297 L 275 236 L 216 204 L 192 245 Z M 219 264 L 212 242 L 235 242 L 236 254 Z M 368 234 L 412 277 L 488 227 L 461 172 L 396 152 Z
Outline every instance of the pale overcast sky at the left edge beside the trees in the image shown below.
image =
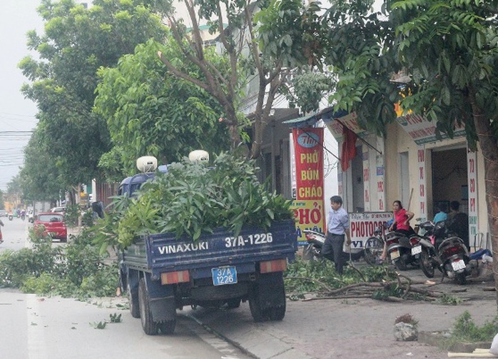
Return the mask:
M 22 95 L 27 79 L 17 68 L 30 54 L 26 33 L 43 29 L 36 13 L 39 0 L 2 0 L 0 12 L 0 189 L 19 173 L 24 161 L 24 146 L 36 126 L 36 104 Z M 34 55 L 34 54 L 32 54 Z

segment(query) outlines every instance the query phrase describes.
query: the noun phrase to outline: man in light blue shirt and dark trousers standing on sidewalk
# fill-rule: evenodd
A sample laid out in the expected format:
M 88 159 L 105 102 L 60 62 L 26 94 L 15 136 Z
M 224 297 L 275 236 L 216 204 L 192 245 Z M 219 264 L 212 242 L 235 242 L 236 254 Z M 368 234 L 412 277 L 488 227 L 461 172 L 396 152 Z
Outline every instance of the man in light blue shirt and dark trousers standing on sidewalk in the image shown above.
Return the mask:
M 327 237 L 322 247 L 322 255 L 334 261 L 335 270 L 342 275 L 344 266 L 344 254 L 342 246 L 344 237 L 347 237 L 346 244 L 350 246 L 350 221 L 347 212 L 342 208 L 342 198 L 340 196 L 330 197 L 330 212 L 327 218 Z

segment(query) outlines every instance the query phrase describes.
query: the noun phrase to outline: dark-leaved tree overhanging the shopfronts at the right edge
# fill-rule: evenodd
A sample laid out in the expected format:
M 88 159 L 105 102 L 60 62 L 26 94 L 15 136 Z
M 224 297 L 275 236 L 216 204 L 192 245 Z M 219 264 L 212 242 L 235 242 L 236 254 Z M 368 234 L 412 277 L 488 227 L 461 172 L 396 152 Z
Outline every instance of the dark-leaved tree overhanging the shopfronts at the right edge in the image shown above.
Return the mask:
M 394 104 L 434 121 L 437 134 L 464 126 L 469 148 L 484 157 L 492 247 L 498 248 L 498 1 L 332 1 L 322 18 L 325 56 L 339 81 L 337 109 L 355 111 L 364 128 L 382 133 Z M 410 76 L 404 89 L 393 73 Z M 401 93 L 403 92 L 403 93 Z M 498 285 L 498 261 L 494 262 Z M 498 297 L 497 297 L 498 300 Z

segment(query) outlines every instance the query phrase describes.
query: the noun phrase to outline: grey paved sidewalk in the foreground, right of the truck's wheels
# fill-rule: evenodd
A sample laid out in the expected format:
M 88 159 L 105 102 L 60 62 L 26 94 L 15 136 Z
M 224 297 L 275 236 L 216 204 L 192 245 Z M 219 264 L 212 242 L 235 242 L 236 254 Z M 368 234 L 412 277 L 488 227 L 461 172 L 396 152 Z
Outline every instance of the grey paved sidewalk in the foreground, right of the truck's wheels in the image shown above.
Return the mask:
M 414 279 L 420 270 L 409 270 Z M 448 330 L 459 315 L 468 310 L 474 323 L 482 325 L 497 315 L 496 293 L 483 291 L 492 282 L 461 285 L 435 278 L 435 290 L 466 299 L 460 305 L 440 305 L 380 300 L 288 300 L 281 322 L 254 323 L 248 303 L 235 310 L 186 310 L 200 322 L 243 348 L 255 358 L 447 358 L 447 351 L 420 342 L 397 342 L 395 319 L 410 313 L 419 321 L 420 331 Z M 452 290 L 466 290 L 452 293 Z M 184 312 L 184 313 L 185 313 Z M 179 312 L 181 313 L 181 312 Z M 242 325 L 241 325 L 242 324 Z

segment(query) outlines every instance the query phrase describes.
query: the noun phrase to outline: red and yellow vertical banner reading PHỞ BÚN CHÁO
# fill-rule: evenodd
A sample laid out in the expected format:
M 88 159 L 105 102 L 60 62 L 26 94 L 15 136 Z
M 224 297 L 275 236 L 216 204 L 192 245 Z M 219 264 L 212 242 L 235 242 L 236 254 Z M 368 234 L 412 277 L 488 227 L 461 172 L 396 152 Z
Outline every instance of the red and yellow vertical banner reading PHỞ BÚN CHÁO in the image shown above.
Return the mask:
M 323 128 L 293 128 L 296 199 L 293 202 L 298 240 L 303 230 L 325 233 L 323 202 Z

